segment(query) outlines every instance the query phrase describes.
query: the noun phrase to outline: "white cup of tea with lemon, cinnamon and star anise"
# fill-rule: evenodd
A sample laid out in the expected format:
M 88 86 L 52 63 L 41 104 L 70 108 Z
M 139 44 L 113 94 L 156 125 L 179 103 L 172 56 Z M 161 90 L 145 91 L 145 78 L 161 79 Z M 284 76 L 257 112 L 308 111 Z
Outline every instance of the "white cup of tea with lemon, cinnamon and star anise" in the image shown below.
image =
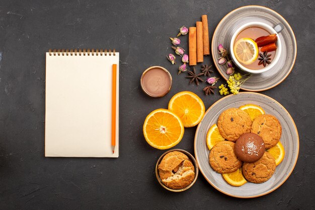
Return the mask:
M 270 70 L 280 58 L 281 42 L 278 33 L 282 29 L 281 23 L 275 28 L 262 22 L 244 24 L 231 38 L 232 61 L 241 70 L 252 74 Z

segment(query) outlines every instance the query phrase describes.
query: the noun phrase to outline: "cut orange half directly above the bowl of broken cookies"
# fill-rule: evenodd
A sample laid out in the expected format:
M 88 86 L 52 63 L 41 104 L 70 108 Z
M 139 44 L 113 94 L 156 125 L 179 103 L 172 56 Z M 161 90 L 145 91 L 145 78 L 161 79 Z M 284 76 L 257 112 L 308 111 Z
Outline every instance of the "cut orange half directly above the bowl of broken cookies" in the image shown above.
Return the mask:
M 166 150 L 177 145 L 184 135 L 181 119 L 167 109 L 149 113 L 143 123 L 143 135 L 153 148 Z

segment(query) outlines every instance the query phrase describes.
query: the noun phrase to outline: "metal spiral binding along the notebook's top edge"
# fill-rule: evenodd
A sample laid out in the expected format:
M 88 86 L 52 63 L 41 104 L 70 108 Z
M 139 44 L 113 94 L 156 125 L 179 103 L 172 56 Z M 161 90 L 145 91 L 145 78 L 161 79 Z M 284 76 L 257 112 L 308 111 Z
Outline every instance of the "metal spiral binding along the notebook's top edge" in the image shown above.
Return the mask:
M 72 55 L 105 55 L 105 56 L 107 56 L 107 54 L 108 55 L 116 55 L 116 50 L 115 49 L 113 49 L 113 52 L 112 52 L 112 49 L 109 49 L 108 51 L 107 51 L 107 49 L 104 49 L 104 51 L 103 51 L 103 49 L 96 49 L 96 50 L 94 50 L 94 49 L 49 49 L 48 50 L 48 53 L 49 53 L 49 55 L 58 55 L 58 56 L 60 56 L 60 55 L 66 55 L 66 56 L 68 56 L 68 55 L 70 55 L 70 56 L 72 56 Z M 104 54 L 103 54 L 104 53 Z

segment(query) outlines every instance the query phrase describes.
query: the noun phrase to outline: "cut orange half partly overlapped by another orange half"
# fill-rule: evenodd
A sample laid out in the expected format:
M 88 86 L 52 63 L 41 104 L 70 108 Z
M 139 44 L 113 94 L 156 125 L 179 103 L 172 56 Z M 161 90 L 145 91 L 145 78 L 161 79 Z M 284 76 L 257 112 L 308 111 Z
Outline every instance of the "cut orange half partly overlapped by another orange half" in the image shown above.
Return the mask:
M 171 98 L 169 110 L 179 116 L 184 127 L 193 127 L 202 120 L 205 107 L 202 100 L 196 94 L 183 91 Z

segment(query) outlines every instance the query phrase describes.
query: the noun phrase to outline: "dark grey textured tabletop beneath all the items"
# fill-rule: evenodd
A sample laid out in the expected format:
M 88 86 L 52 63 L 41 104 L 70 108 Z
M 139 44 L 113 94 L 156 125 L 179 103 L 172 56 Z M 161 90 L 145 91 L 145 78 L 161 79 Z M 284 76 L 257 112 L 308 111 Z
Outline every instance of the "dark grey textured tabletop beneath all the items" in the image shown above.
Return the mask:
M 188 85 L 166 55 L 169 37 L 182 25 L 208 15 L 209 35 L 231 10 L 262 5 L 280 13 L 297 41 L 289 77 L 264 91 L 292 115 L 300 153 L 291 176 L 263 197 L 237 199 L 199 174 L 187 191 L 173 193 L 156 181 L 154 167 L 164 152 L 144 140 L 145 116 L 167 108 L 177 92 L 190 90 L 206 108 L 221 98 L 205 96 L 203 84 Z M 314 209 L 315 65 L 311 0 L 269 1 L 1 1 L 0 2 L 0 209 Z M 182 38 L 187 49 L 187 36 Z M 120 157 L 45 158 L 45 52 L 49 48 L 116 48 L 120 52 Z M 178 58 L 179 59 L 179 58 Z M 212 63 L 207 57 L 205 62 Z M 178 62 L 180 63 L 180 62 Z M 139 79 L 145 68 L 162 65 L 173 87 L 159 99 L 147 97 Z M 218 76 L 217 72 L 213 75 Z M 222 83 L 222 79 L 218 85 Z M 191 153 L 196 127 L 186 128 L 176 148 Z

